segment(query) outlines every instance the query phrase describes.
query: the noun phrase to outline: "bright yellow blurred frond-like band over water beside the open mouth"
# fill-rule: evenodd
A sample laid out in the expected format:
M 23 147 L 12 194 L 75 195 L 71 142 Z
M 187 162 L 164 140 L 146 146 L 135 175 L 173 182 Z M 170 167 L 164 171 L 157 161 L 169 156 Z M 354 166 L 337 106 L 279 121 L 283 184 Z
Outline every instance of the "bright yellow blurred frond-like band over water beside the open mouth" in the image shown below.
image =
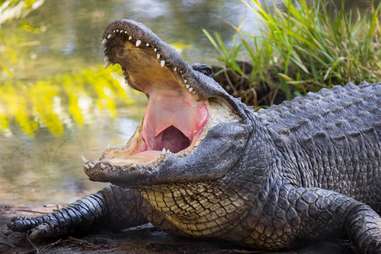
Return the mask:
M 93 67 L 35 83 L 5 82 L 0 85 L 0 130 L 15 122 L 29 136 L 40 126 L 59 136 L 64 123 L 82 126 L 96 110 L 115 117 L 117 106 L 132 103 L 113 77 L 118 72 L 117 66 Z

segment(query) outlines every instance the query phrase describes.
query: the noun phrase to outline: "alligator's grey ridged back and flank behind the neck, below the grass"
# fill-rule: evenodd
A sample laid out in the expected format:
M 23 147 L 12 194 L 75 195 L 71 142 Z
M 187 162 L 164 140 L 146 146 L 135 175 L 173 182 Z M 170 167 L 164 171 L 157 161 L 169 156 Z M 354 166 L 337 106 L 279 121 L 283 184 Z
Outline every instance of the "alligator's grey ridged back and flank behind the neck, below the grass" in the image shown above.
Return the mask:
M 258 112 L 280 134 L 291 180 L 381 211 L 381 84 L 336 86 Z M 292 179 L 294 178 L 294 179 Z

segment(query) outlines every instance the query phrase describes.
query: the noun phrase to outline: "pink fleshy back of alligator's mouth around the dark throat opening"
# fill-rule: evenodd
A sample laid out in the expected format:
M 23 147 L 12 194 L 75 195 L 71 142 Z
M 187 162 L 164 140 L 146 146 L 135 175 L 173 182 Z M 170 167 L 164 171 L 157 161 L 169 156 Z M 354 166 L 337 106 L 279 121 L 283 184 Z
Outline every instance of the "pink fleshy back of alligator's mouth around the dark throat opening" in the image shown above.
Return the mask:
M 151 91 L 146 110 L 143 138 L 149 150 L 158 150 L 161 145 L 165 148 L 173 147 L 174 150 L 183 147 L 184 135 L 188 142 L 193 140 L 208 116 L 205 102 L 195 101 L 188 92 L 180 89 Z M 164 130 L 165 133 L 162 133 Z M 180 140 L 174 143 L 173 140 L 176 139 Z M 158 142 L 161 143 L 159 140 L 163 142 L 161 145 L 158 145 Z

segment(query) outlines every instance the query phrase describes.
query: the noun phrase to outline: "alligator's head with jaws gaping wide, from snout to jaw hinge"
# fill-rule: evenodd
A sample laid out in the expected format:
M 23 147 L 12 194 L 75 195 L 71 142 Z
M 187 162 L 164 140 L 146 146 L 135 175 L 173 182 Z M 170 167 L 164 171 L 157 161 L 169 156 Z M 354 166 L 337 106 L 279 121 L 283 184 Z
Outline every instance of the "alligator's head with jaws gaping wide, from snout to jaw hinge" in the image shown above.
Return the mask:
M 103 44 L 106 60 L 122 67 L 148 105 L 125 147 L 85 163 L 91 180 L 129 187 L 205 182 L 234 169 L 252 131 L 239 100 L 140 23 L 113 22 Z

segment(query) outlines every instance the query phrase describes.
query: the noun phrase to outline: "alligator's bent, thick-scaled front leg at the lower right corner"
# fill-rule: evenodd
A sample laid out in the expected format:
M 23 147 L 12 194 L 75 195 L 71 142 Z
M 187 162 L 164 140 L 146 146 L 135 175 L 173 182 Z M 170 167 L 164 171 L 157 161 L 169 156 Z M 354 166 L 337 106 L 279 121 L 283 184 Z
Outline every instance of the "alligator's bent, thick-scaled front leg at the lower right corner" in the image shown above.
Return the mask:
M 347 236 L 359 253 L 381 253 L 380 216 L 368 205 L 333 191 L 274 188 L 254 229 L 269 225 L 271 232 L 264 232 L 267 239 L 261 238 L 263 247 L 284 248 L 303 240 Z

